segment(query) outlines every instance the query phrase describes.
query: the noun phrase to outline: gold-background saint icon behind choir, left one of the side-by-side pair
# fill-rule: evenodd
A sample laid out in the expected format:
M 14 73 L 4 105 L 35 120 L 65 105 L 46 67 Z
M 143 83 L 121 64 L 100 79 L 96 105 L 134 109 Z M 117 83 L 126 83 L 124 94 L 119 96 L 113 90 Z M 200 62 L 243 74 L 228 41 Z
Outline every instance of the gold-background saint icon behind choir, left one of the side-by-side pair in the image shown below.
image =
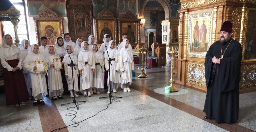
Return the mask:
M 114 40 L 114 21 L 113 20 L 98 20 L 98 43 L 103 43 L 104 34 L 109 34 L 111 40 Z

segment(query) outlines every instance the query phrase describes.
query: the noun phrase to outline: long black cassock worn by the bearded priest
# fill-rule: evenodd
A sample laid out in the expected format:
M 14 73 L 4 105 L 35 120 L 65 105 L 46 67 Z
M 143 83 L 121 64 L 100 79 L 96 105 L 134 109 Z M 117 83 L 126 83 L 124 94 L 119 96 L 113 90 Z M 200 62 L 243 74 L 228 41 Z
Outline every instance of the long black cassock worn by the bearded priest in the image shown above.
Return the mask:
M 214 64 L 212 58 L 221 57 L 221 47 L 222 54 L 226 50 L 223 54 L 224 58 L 220 59 L 220 64 Z M 205 57 L 207 95 L 204 112 L 208 118 L 215 118 L 217 123 L 237 122 L 241 58 L 242 47 L 232 38 L 222 45 L 220 41 L 214 42 L 207 51 Z

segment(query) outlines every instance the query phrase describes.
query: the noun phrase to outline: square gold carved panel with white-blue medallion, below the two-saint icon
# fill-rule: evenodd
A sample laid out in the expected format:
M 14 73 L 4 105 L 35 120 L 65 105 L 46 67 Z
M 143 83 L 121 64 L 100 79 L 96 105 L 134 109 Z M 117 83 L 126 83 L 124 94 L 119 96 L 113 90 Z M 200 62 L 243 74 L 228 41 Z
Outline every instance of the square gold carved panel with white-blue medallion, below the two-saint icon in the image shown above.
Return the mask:
M 206 87 L 204 64 L 187 62 L 186 82 Z

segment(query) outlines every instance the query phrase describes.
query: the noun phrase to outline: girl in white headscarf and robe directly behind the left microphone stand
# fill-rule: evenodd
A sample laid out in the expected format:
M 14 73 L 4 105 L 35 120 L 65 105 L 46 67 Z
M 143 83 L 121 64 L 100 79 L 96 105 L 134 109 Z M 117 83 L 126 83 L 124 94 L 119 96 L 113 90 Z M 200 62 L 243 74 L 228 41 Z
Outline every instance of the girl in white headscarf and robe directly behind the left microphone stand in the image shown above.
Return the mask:
M 64 59 L 62 61 L 62 63 L 64 64 L 64 69 L 65 69 L 65 75 L 66 75 L 66 79 L 67 79 L 67 83 L 68 83 L 68 90 L 70 91 L 70 97 L 74 98 L 73 95 L 73 87 L 75 89 L 75 96 L 79 97 L 76 92 L 79 91 L 78 89 L 78 76 L 79 76 L 79 71 L 78 71 L 78 67 L 77 67 L 77 56 L 74 54 L 74 50 L 73 47 L 71 45 L 67 45 L 67 53 L 64 56 Z M 69 58 L 73 60 L 74 65 L 71 64 L 71 60 Z M 75 68 L 73 68 L 73 73 L 72 73 L 72 66 L 74 66 Z M 73 76 L 73 77 L 72 77 Z M 73 79 L 74 79 L 74 86 L 73 86 Z

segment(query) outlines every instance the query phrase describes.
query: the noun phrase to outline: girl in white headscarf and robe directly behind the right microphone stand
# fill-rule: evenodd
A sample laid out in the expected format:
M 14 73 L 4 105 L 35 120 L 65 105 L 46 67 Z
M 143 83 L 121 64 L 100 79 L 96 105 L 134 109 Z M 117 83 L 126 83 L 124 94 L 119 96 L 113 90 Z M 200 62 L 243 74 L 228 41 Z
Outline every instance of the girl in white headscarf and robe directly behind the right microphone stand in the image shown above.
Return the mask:
M 111 60 L 111 64 L 109 67 L 108 63 L 108 54 L 105 52 L 104 58 L 105 58 L 105 69 L 108 71 L 108 94 L 110 93 L 110 86 L 109 86 L 109 72 L 110 72 L 110 81 L 111 81 L 111 91 L 113 90 L 114 93 L 116 93 L 118 89 L 118 84 L 121 83 L 120 78 L 120 66 L 118 64 L 118 50 L 116 49 L 116 43 L 114 40 L 110 40 L 108 43 L 108 54 Z M 109 70 L 110 68 L 110 70 Z M 113 84 L 113 85 L 112 85 Z

